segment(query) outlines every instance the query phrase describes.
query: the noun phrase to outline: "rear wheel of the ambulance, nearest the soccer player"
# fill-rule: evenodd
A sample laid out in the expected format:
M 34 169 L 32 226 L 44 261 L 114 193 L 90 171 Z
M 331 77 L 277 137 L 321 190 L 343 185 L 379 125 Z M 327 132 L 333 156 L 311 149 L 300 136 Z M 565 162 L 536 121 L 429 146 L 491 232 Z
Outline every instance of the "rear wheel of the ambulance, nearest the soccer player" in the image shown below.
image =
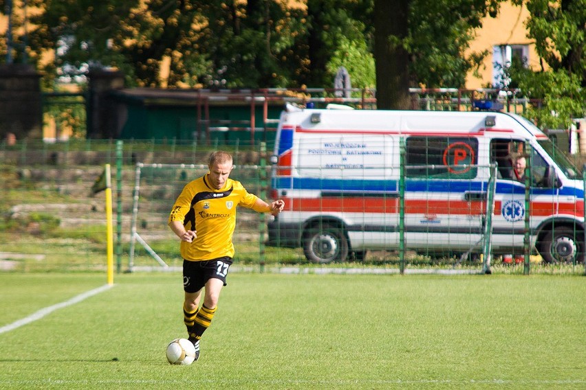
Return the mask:
M 303 238 L 303 253 L 307 260 L 314 263 L 343 261 L 348 257 L 348 241 L 337 227 L 310 227 Z

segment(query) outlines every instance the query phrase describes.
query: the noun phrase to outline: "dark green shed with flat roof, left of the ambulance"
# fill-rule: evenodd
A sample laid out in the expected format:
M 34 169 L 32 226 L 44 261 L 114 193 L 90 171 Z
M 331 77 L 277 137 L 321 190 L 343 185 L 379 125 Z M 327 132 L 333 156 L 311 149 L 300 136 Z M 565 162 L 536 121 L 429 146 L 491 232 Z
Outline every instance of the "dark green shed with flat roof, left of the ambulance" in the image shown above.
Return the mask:
M 120 139 L 175 139 L 234 144 L 274 142 L 286 98 L 263 91 L 118 89 Z

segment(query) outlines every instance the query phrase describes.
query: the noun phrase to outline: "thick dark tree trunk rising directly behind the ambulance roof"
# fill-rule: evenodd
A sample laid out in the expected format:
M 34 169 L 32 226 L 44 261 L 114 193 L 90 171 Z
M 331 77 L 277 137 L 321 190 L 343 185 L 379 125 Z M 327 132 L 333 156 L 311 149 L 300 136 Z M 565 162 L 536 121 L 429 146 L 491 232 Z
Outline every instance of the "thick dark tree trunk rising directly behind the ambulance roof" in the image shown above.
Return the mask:
M 402 47 L 407 36 L 409 0 L 374 1 L 374 58 L 376 104 L 379 110 L 408 110 L 409 54 Z

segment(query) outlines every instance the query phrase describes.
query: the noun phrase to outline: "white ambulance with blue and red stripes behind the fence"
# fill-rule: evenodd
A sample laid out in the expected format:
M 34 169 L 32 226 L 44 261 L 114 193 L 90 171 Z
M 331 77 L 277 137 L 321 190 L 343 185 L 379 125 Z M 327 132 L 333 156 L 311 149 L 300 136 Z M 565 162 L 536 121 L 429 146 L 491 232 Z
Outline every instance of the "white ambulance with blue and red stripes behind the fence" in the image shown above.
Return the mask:
M 529 179 L 512 174 L 514 154 L 525 154 Z M 583 261 L 581 173 L 519 115 L 288 106 L 272 164 L 272 197 L 285 209 L 269 222 L 268 245 L 303 248 L 310 262 L 401 244 L 482 253 L 487 223 L 493 255 L 523 254 L 528 231 L 543 261 Z

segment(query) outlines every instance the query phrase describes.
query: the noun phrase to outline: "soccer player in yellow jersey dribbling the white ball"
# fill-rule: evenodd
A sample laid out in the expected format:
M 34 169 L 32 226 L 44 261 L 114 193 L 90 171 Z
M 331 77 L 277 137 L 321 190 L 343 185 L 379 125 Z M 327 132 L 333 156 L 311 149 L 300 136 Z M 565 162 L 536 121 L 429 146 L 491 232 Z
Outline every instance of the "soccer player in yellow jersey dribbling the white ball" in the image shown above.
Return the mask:
M 228 152 L 210 154 L 208 167 L 210 172 L 184 187 L 169 216 L 169 227 L 181 239 L 184 323 L 188 339 L 195 346 L 195 360 L 199 358 L 199 340 L 214 318 L 234 257 L 236 207 L 275 216 L 285 207 L 283 200 L 268 204 L 249 194 L 239 181 L 229 179 L 234 165 Z M 204 302 L 199 307 L 202 290 Z

